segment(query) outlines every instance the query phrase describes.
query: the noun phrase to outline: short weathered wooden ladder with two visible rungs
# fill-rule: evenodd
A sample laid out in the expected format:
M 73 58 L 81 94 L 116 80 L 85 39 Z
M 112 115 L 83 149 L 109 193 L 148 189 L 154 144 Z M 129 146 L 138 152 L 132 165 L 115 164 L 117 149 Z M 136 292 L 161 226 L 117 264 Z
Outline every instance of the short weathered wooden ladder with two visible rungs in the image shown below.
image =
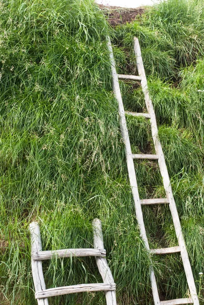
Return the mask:
M 40 227 L 38 223 L 30 224 L 31 233 L 31 263 L 35 287 L 35 297 L 38 305 L 48 305 L 48 297 L 69 293 L 105 291 L 107 305 L 116 305 L 115 283 L 106 261 L 106 251 L 103 245 L 101 221 L 94 219 L 94 249 L 63 249 L 55 251 L 42 251 Z M 96 263 L 103 279 L 103 283 L 79 284 L 73 286 L 46 289 L 43 277 L 42 261 L 51 258 L 95 256 Z

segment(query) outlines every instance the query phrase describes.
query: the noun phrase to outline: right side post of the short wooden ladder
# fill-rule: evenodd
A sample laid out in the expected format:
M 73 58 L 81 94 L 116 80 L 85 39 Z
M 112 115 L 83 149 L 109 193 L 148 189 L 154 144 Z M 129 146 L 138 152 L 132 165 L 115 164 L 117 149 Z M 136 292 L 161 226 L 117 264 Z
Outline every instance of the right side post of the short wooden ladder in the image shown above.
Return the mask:
M 104 248 L 101 221 L 99 219 L 94 219 L 92 222 L 92 226 L 94 231 L 94 248 Z M 103 282 L 105 284 L 113 285 L 114 280 L 106 259 L 102 257 L 96 257 L 96 263 Z M 107 305 L 116 305 L 115 291 L 107 291 L 105 292 L 105 296 Z

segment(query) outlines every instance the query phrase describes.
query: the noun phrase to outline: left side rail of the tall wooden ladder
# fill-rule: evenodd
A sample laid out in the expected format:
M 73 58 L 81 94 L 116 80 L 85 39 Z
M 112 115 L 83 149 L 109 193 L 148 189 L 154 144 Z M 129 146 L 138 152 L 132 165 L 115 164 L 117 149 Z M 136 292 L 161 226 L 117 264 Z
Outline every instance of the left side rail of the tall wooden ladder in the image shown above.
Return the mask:
M 147 238 L 147 234 L 146 234 L 145 227 L 144 227 L 141 203 L 140 203 L 140 199 L 139 199 L 137 180 L 136 180 L 136 175 L 135 175 L 134 162 L 133 162 L 133 158 L 132 158 L 132 151 L 131 151 L 130 139 L 129 139 L 129 135 L 128 135 L 127 123 L 126 123 L 126 118 L 125 118 L 125 110 L 124 110 L 124 106 L 123 106 L 119 79 L 118 79 L 118 75 L 117 75 L 116 69 L 115 69 L 115 62 L 114 62 L 114 57 L 113 57 L 113 53 L 112 53 L 110 38 L 108 37 L 107 40 L 108 40 L 108 42 L 107 42 L 108 50 L 109 50 L 109 54 L 110 54 L 111 72 L 112 72 L 112 80 L 113 80 L 113 92 L 114 92 L 116 100 L 119 103 L 121 134 L 122 134 L 123 142 L 125 144 L 127 168 L 128 168 L 130 186 L 131 186 L 132 195 L 133 195 L 134 204 L 135 204 L 135 213 L 136 213 L 136 218 L 137 218 L 137 223 L 139 226 L 141 238 L 144 241 L 145 248 L 149 251 L 150 246 L 148 243 L 148 238 Z M 155 273 L 154 273 L 152 266 L 150 267 L 150 278 L 151 278 L 152 292 L 153 292 L 153 298 L 154 298 L 155 305 L 160 305 L 159 293 L 158 293 L 157 283 L 156 283 L 156 279 L 155 279 Z

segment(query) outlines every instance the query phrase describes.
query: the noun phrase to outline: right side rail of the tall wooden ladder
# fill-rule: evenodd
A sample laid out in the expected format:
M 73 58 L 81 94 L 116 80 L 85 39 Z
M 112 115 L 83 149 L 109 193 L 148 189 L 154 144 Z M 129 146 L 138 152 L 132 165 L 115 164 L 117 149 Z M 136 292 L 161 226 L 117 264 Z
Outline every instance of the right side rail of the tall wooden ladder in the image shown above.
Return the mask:
M 183 265 L 184 265 L 184 269 L 185 269 L 185 273 L 186 273 L 186 278 L 187 278 L 190 294 L 191 294 L 194 305 L 198 305 L 199 301 L 198 301 L 197 292 L 196 292 L 196 288 L 195 288 L 195 282 L 193 279 L 193 273 L 191 270 L 188 253 L 186 250 L 186 245 L 185 245 L 185 241 L 184 241 L 184 237 L 183 237 L 183 233 L 182 233 L 182 229 L 181 229 L 177 206 L 176 206 L 176 203 L 173 198 L 173 193 L 172 193 L 172 189 L 171 189 L 171 185 L 170 185 L 170 179 L 168 176 L 168 171 L 167 171 L 167 167 L 166 167 L 166 163 L 165 163 L 165 159 L 164 159 L 162 146 L 161 146 L 161 143 L 158 138 L 156 116 L 155 116 L 152 100 L 150 99 L 150 96 L 149 96 L 148 83 L 147 83 L 147 78 L 145 76 L 145 71 L 144 71 L 144 67 L 143 67 L 139 41 L 136 37 L 134 38 L 134 52 L 135 52 L 135 57 L 136 57 L 136 62 L 137 62 L 137 70 L 138 70 L 139 76 L 141 76 L 141 79 L 142 79 L 141 87 L 142 87 L 142 91 L 144 94 L 145 104 L 146 104 L 148 112 L 151 116 L 150 122 L 151 122 L 152 137 L 153 137 L 153 141 L 155 144 L 155 151 L 159 157 L 158 164 L 159 164 L 160 172 L 161 172 L 161 175 L 163 178 L 163 184 L 164 184 L 164 189 L 166 191 L 166 197 L 169 199 L 169 208 L 171 211 L 174 228 L 176 230 L 178 243 L 181 248 L 181 257 L 182 257 L 182 261 L 183 261 Z

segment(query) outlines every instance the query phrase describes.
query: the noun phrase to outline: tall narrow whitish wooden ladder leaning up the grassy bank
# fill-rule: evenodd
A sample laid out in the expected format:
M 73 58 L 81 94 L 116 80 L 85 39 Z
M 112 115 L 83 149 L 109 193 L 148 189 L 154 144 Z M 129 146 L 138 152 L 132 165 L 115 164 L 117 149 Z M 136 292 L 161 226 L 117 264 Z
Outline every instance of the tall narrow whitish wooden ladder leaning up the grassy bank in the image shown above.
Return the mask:
M 156 283 L 156 279 L 155 279 L 155 273 L 154 273 L 153 266 L 151 265 L 150 278 L 151 278 L 154 303 L 155 303 L 155 305 L 179 305 L 179 304 L 189 304 L 189 303 L 193 303 L 194 305 L 199 305 L 199 301 L 198 301 L 198 297 L 197 297 L 197 293 L 196 293 L 195 282 L 193 279 L 191 265 L 189 262 L 188 253 L 186 250 L 186 245 L 185 245 L 185 241 L 184 241 L 184 237 L 183 237 L 183 233 L 182 233 L 182 229 L 181 229 L 177 206 L 173 199 L 173 193 L 172 193 L 172 189 L 171 189 L 171 185 L 170 185 L 170 179 L 168 176 L 168 171 L 167 171 L 167 167 L 166 167 L 166 163 L 165 163 L 165 159 L 164 159 L 164 154 L 163 154 L 161 143 L 158 138 L 156 116 L 155 116 L 153 104 L 150 99 L 150 95 L 149 95 L 149 91 L 148 91 L 148 83 L 147 83 L 147 78 L 145 76 L 145 71 L 144 71 L 144 67 L 143 67 L 139 41 L 137 38 L 134 38 L 134 53 L 135 53 L 135 57 L 136 57 L 137 70 L 138 70 L 139 76 L 117 74 L 116 69 L 115 69 L 115 62 L 114 62 L 114 57 L 113 57 L 113 53 L 112 53 L 111 42 L 110 42 L 109 38 L 108 38 L 108 50 L 109 50 L 110 62 L 111 62 L 113 91 L 114 91 L 114 95 L 119 103 L 120 127 L 121 127 L 123 142 L 125 144 L 128 174 L 129 174 L 130 186 L 132 189 L 132 195 L 133 195 L 134 204 L 135 204 L 136 218 L 137 218 L 137 222 L 138 222 L 139 229 L 140 229 L 140 235 L 144 241 L 145 248 L 152 254 L 161 255 L 161 254 L 170 254 L 170 253 L 176 253 L 176 252 L 181 253 L 183 266 L 184 266 L 184 270 L 185 270 L 186 278 L 187 278 L 187 282 L 188 282 L 188 287 L 190 290 L 190 297 L 188 297 L 188 298 L 160 301 L 158 287 L 157 287 L 157 283 Z M 124 110 L 119 79 L 129 79 L 129 80 L 136 80 L 136 81 L 141 82 L 141 87 L 142 87 L 142 91 L 144 94 L 145 105 L 148 110 L 147 113 L 134 113 L 134 112 L 129 112 L 129 111 Z M 126 124 L 126 117 L 125 117 L 126 113 L 130 114 L 130 115 L 134 115 L 134 116 L 143 116 L 143 117 L 146 117 L 147 119 L 150 119 L 151 132 L 152 132 L 156 155 L 132 154 L 127 124 Z M 163 185 L 164 185 L 164 189 L 165 189 L 165 193 L 166 193 L 166 198 L 140 200 L 139 193 L 138 193 L 138 187 L 137 187 L 137 179 L 136 179 L 136 173 L 135 173 L 135 168 L 134 168 L 134 162 L 133 162 L 133 160 L 135 160 L 135 159 L 158 160 L 159 169 L 161 172 L 161 176 L 163 179 Z M 146 230 L 144 227 L 141 205 L 165 204 L 165 203 L 169 205 L 169 208 L 171 211 L 174 228 L 176 230 L 176 235 L 178 238 L 178 246 L 171 247 L 171 248 L 163 248 L 163 249 L 150 249 Z

